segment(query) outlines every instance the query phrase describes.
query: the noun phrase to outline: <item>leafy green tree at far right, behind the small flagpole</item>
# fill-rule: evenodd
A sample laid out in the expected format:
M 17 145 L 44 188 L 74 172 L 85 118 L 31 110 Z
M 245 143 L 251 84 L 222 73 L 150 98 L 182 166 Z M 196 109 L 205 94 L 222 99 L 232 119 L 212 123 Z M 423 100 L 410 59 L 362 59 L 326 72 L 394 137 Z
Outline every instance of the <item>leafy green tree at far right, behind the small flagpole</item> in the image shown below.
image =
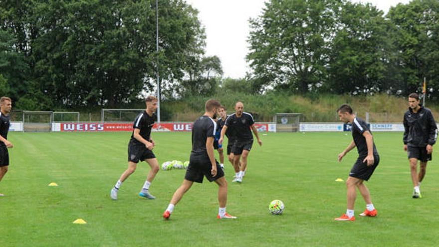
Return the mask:
M 402 70 L 401 90 L 407 95 L 421 91 L 424 77 L 431 95 L 439 97 L 439 1 L 412 0 L 389 10 L 393 40 Z

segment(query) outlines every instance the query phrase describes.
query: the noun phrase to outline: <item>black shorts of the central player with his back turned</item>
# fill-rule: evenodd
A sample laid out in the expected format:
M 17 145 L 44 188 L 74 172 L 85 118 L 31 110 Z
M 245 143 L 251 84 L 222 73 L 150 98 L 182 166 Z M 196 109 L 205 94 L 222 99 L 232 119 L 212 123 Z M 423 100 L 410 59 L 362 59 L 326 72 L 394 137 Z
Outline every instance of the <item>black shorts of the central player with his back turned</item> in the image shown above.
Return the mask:
M 215 162 L 217 162 L 217 176 L 213 177 L 211 174 L 212 164 L 209 160 L 209 156 L 191 154 L 189 166 L 186 169 L 185 179 L 192 182 L 203 183 L 204 176 L 206 176 L 206 179 L 209 180 L 209 182 L 224 177 L 224 172 L 219 166 L 218 161 L 215 160 Z

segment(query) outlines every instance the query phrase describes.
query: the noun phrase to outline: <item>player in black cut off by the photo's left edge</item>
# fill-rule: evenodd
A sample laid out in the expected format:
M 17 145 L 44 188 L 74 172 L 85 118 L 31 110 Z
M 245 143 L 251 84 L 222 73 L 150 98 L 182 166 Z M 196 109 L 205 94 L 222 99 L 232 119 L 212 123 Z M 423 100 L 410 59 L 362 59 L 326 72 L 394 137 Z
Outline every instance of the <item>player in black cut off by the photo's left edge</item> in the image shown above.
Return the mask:
M 10 126 L 9 113 L 12 109 L 12 100 L 8 97 L 0 98 L 0 181 L 7 172 L 9 166 L 8 148 L 13 148 L 11 142 L 7 140 L 7 132 Z M 4 196 L 0 194 L 0 196 Z

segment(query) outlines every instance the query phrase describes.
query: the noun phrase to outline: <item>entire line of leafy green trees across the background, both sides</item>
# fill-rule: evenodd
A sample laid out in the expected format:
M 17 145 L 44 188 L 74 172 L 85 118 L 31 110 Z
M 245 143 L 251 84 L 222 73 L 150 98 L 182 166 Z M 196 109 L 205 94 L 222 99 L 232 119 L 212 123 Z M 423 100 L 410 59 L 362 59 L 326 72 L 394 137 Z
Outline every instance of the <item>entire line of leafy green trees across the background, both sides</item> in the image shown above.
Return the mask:
M 118 107 L 218 90 L 287 94 L 439 96 L 439 1 L 385 15 L 348 0 L 267 0 L 249 20 L 251 70 L 222 78 L 206 56 L 198 10 L 184 0 L 0 0 L 0 93 L 15 107 Z M 220 20 L 219 20 L 220 21 Z

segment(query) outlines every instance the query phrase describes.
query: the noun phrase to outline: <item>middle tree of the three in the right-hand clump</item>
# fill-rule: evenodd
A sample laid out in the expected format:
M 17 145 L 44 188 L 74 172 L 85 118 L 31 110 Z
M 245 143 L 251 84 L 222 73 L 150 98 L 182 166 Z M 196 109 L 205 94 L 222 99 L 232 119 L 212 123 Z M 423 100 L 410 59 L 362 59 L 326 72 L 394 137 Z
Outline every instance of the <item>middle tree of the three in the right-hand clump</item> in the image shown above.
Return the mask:
M 385 87 L 390 49 L 388 22 L 370 3 L 343 4 L 329 56 L 327 91 L 379 92 Z

